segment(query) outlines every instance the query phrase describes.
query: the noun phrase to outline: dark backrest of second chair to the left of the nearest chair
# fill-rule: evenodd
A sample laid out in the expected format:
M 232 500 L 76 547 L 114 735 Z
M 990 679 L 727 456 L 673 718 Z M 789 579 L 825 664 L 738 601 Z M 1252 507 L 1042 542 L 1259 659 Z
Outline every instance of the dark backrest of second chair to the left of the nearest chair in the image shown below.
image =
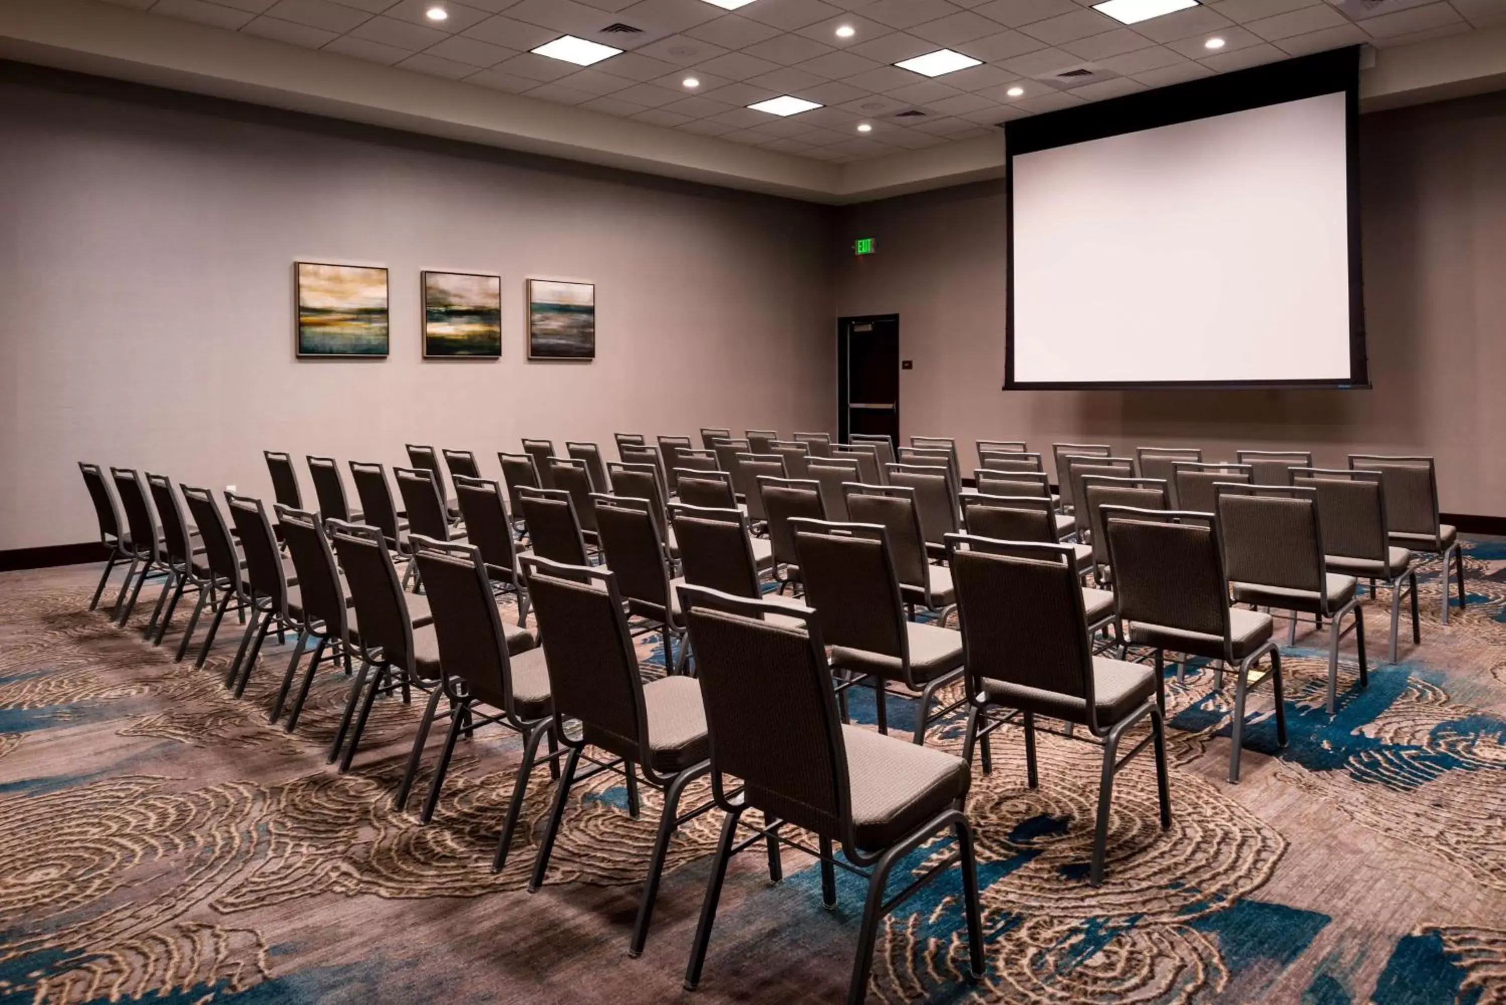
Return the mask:
M 413 561 L 434 612 L 440 666 L 467 683 L 467 692 L 512 713 L 512 667 L 506 634 L 479 548 L 459 541 L 413 539 Z

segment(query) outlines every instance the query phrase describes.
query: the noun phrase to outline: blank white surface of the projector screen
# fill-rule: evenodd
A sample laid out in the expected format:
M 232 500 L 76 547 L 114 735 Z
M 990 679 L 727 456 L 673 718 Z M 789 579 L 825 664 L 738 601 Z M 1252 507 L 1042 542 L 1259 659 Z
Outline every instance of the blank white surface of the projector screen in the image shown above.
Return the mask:
M 1351 380 L 1346 98 L 1014 158 L 1014 383 Z

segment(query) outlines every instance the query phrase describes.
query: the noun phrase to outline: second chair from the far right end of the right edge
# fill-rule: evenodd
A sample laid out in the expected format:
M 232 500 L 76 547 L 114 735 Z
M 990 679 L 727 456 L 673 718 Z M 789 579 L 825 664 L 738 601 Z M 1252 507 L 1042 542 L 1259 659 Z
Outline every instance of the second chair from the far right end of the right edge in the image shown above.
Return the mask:
M 1413 643 L 1422 642 L 1417 624 L 1417 573 L 1411 550 L 1392 544 L 1381 472 L 1322 467 L 1294 467 L 1292 484 L 1318 493 L 1318 520 L 1322 523 L 1324 565 L 1340 576 L 1386 583 L 1392 591 L 1392 645 L 1389 660 L 1396 663 L 1396 636 L 1401 630 L 1402 600 L 1411 597 Z

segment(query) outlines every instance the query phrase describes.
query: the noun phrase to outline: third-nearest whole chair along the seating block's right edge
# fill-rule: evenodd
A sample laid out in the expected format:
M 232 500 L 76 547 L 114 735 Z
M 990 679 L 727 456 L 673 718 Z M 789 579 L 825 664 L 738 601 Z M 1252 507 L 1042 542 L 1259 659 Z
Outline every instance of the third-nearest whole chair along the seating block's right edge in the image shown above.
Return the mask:
M 1104 506 L 1099 514 L 1114 570 L 1116 636 L 1154 651 L 1157 704 L 1163 713 L 1167 651 L 1184 657 L 1178 663 L 1178 680 L 1184 680 L 1188 655 L 1218 660 L 1214 689 L 1220 692 L 1224 667 L 1233 669 L 1229 782 L 1238 782 L 1245 696 L 1251 684 L 1271 681 L 1276 743 L 1286 746 L 1282 651 L 1271 639 L 1271 616 L 1230 606 L 1215 515 L 1130 506 Z M 1254 677 L 1262 658 L 1270 658 L 1270 671 Z

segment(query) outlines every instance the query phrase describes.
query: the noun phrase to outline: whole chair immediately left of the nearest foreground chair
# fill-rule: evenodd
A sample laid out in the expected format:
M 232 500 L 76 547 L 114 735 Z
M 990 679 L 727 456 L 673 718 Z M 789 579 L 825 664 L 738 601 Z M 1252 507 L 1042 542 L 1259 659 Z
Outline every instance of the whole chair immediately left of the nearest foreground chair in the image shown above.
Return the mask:
M 687 812 L 679 809 L 685 787 L 711 770 L 700 683 L 673 674 L 643 681 L 614 574 L 538 556 L 524 556 L 521 562 L 533 591 L 535 616 L 544 642 L 554 702 L 553 729 L 566 749 L 529 892 L 538 892 L 548 875 L 571 788 L 601 771 L 617 771 L 628 780 L 630 812 L 637 815 L 637 780 L 642 774 L 645 782 L 664 793 L 664 808 L 628 943 L 628 954 L 637 957 L 648 940 L 670 838 L 712 806 L 708 800 Z M 580 732 L 566 729 L 566 722 L 580 723 Z M 580 738 L 572 738 L 572 734 Z M 613 759 L 577 774 L 587 744 L 605 750 Z

